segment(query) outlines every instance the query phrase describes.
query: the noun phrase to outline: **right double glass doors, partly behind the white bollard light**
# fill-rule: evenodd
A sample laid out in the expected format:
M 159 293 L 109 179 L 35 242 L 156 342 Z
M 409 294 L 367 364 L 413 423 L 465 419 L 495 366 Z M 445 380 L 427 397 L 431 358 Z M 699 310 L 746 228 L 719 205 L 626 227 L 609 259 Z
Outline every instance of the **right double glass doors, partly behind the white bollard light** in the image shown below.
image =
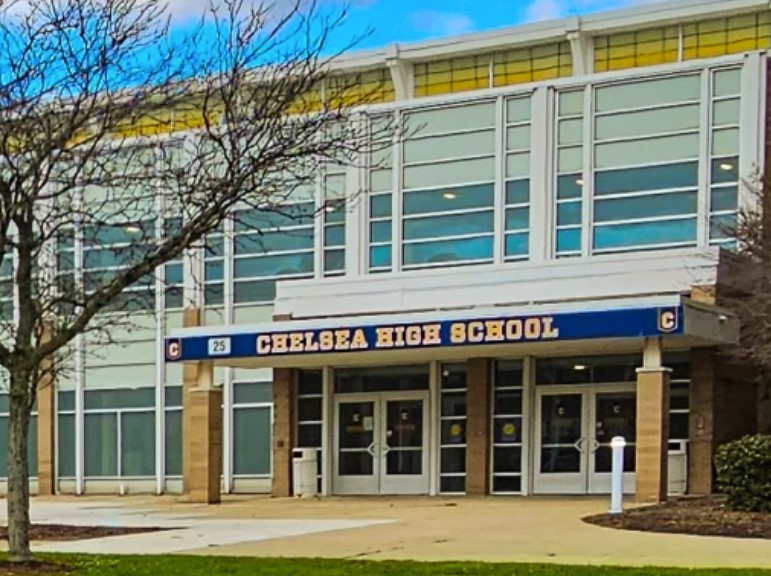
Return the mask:
M 634 492 L 637 399 L 634 388 L 538 389 L 535 492 L 610 492 L 614 436 L 623 436 L 624 491 Z

